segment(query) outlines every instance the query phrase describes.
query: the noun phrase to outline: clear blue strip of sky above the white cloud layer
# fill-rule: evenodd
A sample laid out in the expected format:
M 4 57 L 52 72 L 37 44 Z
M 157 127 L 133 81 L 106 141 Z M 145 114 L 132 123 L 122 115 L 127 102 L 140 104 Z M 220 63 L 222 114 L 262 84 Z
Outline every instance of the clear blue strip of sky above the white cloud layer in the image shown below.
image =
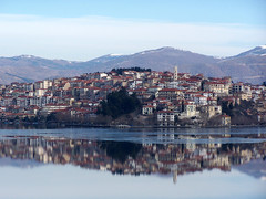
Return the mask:
M 0 12 L 74 18 L 105 15 L 171 22 L 266 22 L 265 0 L 1 0 Z

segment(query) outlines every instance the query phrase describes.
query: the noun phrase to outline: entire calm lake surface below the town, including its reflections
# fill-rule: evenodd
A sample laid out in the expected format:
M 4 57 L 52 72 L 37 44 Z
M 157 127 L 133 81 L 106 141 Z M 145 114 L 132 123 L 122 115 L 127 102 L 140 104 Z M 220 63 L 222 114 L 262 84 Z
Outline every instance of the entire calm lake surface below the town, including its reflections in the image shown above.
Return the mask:
M 0 198 L 266 198 L 266 128 L 0 129 Z

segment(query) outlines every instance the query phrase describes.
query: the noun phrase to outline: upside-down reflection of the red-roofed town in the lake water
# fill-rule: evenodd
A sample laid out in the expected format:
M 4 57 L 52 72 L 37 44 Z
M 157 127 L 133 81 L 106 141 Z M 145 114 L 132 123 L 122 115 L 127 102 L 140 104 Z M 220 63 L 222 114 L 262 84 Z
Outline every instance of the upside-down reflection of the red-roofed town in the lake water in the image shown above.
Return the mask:
M 266 157 L 266 143 L 158 145 L 41 136 L 9 138 L 0 140 L 0 158 L 72 164 L 112 174 L 172 174 L 174 182 L 177 175 L 213 168 L 229 171 L 232 165 Z

